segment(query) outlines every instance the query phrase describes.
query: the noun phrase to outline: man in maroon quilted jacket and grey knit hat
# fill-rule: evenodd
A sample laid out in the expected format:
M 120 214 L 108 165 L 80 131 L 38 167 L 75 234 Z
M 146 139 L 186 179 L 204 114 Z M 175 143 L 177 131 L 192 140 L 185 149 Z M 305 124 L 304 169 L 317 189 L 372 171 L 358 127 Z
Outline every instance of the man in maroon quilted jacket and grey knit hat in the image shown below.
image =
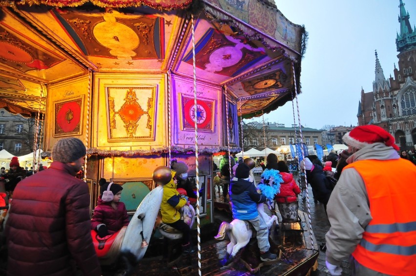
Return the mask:
M 75 177 L 86 149 L 63 138 L 52 149 L 49 169 L 23 179 L 13 194 L 6 224 L 10 275 L 99 276 L 90 234 L 88 186 Z

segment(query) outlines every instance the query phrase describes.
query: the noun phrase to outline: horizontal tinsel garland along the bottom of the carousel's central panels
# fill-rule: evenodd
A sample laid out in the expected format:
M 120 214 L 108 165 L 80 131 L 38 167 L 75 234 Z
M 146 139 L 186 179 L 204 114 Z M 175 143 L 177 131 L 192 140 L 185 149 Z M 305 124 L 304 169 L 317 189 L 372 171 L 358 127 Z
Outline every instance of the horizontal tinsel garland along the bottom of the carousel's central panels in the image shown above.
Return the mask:
M 150 150 L 130 150 L 130 151 L 119 151 L 119 150 L 101 150 L 97 148 L 87 149 L 88 156 L 104 156 L 104 157 L 133 157 L 133 156 L 151 156 L 151 155 L 161 155 L 168 153 L 168 147 L 155 148 Z M 239 153 L 241 148 L 232 148 L 230 152 L 232 154 Z M 195 154 L 195 147 L 180 147 L 173 146 L 170 148 L 170 152 L 174 154 Z M 218 152 L 228 152 L 228 147 L 215 147 L 215 148 L 204 148 L 198 149 L 198 152 L 201 154 L 214 154 Z M 43 152 L 42 158 L 50 157 L 50 152 Z

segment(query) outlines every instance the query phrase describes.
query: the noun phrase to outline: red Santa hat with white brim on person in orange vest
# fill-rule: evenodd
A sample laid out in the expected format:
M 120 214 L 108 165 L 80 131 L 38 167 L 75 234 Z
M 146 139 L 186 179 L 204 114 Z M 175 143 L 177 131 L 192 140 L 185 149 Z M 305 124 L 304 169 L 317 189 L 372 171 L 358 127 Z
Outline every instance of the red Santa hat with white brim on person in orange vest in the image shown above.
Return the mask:
M 356 149 L 362 149 L 369 144 L 381 142 L 386 146 L 399 150 L 399 147 L 395 144 L 395 138 L 383 128 L 375 125 L 357 126 L 352 131 L 346 133 L 342 139 L 347 145 Z

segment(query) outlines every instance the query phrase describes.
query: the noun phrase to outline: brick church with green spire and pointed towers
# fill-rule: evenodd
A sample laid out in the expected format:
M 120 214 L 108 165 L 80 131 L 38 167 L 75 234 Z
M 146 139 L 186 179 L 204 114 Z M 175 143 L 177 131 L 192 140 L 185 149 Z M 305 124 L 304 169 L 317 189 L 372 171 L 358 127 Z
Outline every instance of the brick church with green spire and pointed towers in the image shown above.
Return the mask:
M 400 0 L 400 34 L 396 37 L 398 68 L 394 77 L 384 78 L 375 52 L 373 91 L 361 89 L 358 125 L 374 124 L 389 131 L 400 149 L 416 145 L 416 28 L 410 25 L 410 15 Z

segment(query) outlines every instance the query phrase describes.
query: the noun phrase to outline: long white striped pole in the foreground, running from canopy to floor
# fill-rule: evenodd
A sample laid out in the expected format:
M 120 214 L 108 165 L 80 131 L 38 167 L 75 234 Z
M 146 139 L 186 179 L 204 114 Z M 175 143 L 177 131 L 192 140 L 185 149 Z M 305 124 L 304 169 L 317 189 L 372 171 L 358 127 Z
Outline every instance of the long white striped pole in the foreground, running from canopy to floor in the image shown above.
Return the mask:
M 201 271 L 201 222 L 200 222 L 200 203 L 199 203 L 199 164 L 198 164 L 198 104 L 196 102 L 196 63 L 195 63 L 195 25 L 193 14 L 191 14 L 192 30 L 192 61 L 193 61 L 193 114 L 195 122 L 195 171 L 196 171 L 196 227 L 198 231 L 198 275 L 202 276 Z

